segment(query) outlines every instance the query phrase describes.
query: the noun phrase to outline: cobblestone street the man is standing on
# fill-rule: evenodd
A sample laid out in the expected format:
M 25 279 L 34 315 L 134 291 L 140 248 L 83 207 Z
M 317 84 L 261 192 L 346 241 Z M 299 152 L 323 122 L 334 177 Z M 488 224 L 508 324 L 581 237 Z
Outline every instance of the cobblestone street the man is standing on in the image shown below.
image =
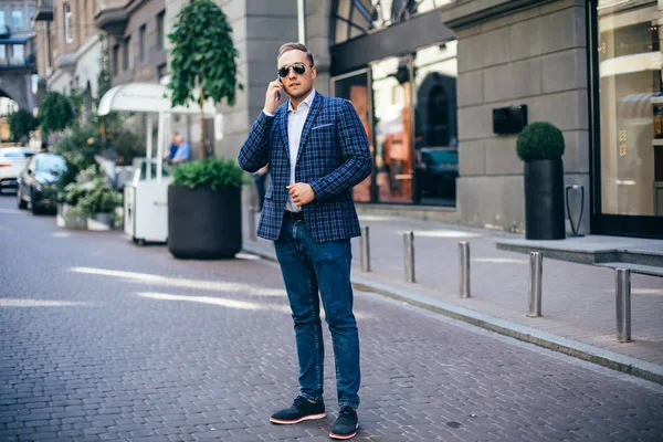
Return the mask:
M 178 261 L 0 197 L 0 441 L 324 441 L 275 264 Z M 663 441 L 663 387 L 357 293 L 357 440 Z M 327 348 L 329 335 L 325 332 Z

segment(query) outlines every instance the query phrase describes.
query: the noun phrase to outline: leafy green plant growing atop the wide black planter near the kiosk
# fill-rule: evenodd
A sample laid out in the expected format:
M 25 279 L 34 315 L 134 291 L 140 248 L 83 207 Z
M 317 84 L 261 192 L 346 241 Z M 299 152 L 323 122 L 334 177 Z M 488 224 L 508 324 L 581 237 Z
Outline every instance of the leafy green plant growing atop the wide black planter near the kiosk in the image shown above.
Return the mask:
M 172 183 L 189 189 L 209 187 L 212 190 L 224 187 L 242 187 L 248 183 L 244 171 L 234 160 L 208 158 L 176 166 Z

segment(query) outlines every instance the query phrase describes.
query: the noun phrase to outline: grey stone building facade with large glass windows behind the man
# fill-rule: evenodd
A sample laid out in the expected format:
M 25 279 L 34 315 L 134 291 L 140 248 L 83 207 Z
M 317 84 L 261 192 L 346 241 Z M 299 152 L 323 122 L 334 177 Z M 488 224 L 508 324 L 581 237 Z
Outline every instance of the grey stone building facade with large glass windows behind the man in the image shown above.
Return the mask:
M 220 1 L 248 87 L 221 108 L 218 154 L 236 155 L 262 109 L 277 48 L 297 40 L 296 3 Z M 373 172 L 355 200 L 522 231 L 517 135 L 494 126 L 515 109 L 564 133 L 569 231 L 582 213 L 581 233 L 663 238 L 662 11 L 661 0 L 306 1 L 316 87 L 349 99 L 370 140 Z

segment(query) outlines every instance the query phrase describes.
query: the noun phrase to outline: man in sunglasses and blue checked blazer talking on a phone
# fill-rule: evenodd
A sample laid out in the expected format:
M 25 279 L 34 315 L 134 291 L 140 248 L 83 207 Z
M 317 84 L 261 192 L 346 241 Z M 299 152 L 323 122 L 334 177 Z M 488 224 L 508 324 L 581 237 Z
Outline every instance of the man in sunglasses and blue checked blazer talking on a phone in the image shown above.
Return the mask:
M 263 112 L 239 155 L 249 172 L 270 164 L 272 179 L 257 235 L 274 241 L 299 361 L 299 396 L 270 420 L 287 424 L 326 415 L 322 298 L 334 341 L 340 408 L 329 435 L 350 439 L 358 428 L 360 383 L 350 285 L 350 238 L 360 229 L 351 189 L 370 175 L 372 161 L 352 105 L 313 88 L 316 70 L 306 46 L 281 46 L 277 67 L 280 81 L 270 83 Z

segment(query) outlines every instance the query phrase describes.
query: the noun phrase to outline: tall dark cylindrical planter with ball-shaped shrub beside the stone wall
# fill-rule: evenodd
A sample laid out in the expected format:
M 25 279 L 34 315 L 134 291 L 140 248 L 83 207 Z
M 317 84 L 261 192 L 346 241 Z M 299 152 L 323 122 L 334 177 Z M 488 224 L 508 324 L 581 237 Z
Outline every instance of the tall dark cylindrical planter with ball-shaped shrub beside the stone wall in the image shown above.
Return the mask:
M 525 238 L 564 240 L 564 135 L 548 122 L 532 123 L 518 135 L 525 161 Z

